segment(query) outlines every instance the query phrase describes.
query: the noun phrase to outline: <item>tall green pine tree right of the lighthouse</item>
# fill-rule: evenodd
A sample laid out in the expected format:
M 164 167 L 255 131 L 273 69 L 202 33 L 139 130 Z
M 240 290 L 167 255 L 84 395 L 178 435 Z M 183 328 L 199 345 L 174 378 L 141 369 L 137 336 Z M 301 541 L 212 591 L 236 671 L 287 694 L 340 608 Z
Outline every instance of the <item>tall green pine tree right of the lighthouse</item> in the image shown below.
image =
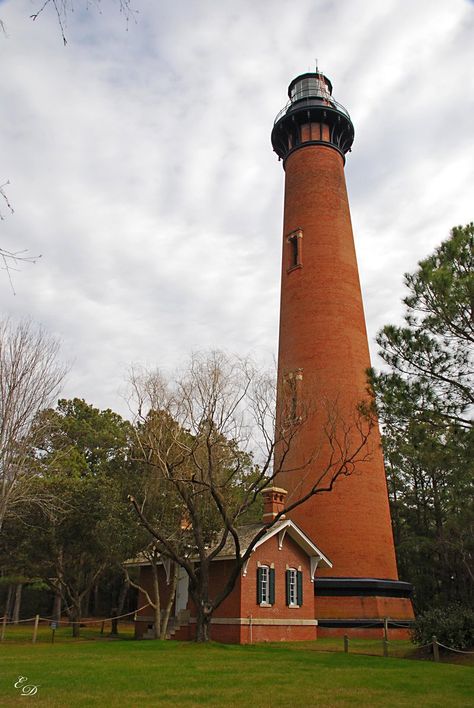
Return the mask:
M 371 372 L 400 574 L 418 609 L 474 599 L 474 225 L 405 275 L 405 324 L 377 337 Z

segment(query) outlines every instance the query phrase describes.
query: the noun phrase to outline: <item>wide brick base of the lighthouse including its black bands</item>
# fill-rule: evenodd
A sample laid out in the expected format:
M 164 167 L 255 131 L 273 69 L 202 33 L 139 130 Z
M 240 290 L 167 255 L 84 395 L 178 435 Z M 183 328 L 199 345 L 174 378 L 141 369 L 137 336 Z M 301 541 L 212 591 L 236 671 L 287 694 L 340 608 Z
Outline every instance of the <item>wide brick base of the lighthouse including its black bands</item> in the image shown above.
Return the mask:
M 412 586 L 381 578 L 316 578 L 318 637 L 408 639 L 414 615 Z

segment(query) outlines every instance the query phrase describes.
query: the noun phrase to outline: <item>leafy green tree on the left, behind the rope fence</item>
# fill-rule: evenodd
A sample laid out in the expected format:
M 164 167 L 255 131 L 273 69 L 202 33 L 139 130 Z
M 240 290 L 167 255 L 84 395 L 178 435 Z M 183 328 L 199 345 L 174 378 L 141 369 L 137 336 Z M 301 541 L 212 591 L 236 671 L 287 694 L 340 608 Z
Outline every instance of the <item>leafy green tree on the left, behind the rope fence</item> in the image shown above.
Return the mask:
M 61 597 L 77 634 L 102 575 L 123 582 L 121 564 L 137 550 L 126 503 L 131 426 L 80 399 L 59 401 L 36 424 L 45 432 L 30 454 L 35 495 L 58 503 L 48 514 L 31 504 L 28 524 L 8 529 L 9 538 L 22 559 L 17 572 L 42 578 Z

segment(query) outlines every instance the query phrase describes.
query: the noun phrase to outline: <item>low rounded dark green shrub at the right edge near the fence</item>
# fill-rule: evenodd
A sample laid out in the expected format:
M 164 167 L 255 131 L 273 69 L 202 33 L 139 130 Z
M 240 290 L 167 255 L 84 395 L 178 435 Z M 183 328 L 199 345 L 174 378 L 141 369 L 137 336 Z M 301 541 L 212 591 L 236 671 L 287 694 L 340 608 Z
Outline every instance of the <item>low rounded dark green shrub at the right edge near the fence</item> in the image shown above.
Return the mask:
M 433 635 L 453 649 L 474 648 L 474 610 L 454 604 L 418 615 L 412 630 L 414 644 L 428 644 Z

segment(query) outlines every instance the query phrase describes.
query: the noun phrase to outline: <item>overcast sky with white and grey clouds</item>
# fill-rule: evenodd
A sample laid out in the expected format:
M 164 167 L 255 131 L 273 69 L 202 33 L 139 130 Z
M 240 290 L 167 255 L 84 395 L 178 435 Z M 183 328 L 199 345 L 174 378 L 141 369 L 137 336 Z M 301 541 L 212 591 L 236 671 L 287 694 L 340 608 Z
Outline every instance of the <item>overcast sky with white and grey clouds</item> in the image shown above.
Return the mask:
M 315 58 L 349 110 L 372 355 L 402 275 L 474 218 L 468 0 L 0 0 L 2 316 L 62 341 L 63 390 L 125 413 L 131 363 L 277 351 L 284 173 L 270 132 Z M 97 10 L 97 3 L 101 11 Z

